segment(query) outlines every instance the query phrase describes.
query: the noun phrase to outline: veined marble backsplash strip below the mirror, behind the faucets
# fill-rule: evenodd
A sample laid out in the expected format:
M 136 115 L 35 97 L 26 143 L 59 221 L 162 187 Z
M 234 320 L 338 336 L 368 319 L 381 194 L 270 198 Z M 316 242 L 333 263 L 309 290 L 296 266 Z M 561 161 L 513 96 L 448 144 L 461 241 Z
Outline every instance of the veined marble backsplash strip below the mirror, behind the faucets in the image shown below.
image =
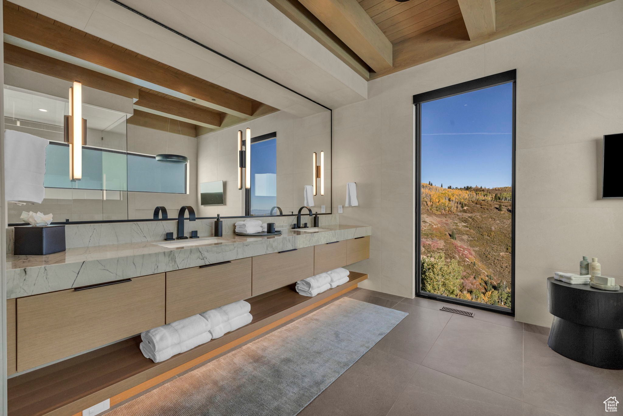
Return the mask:
M 312 218 L 303 215 L 302 222 L 312 226 Z M 318 215 L 320 225 L 338 224 L 338 214 Z M 264 223 L 275 223 L 275 228 L 290 228 L 297 222 L 296 216 L 257 216 L 254 220 Z M 244 218 L 223 218 L 223 235 L 234 234 L 234 223 Z M 184 221 L 184 233 L 190 235 L 197 230 L 199 237 L 214 235 L 214 220 Z M 13 230 L 6 230 L 7 254 L 13 253 Z M 107 246 L 108 244 L 141 243 L 143 241 L 163 240 L 166 233 L 178 234 L 178 221 L 136 221 L 126 223 L 69 224 L 65 225 L 65 246 L 67 248 Z

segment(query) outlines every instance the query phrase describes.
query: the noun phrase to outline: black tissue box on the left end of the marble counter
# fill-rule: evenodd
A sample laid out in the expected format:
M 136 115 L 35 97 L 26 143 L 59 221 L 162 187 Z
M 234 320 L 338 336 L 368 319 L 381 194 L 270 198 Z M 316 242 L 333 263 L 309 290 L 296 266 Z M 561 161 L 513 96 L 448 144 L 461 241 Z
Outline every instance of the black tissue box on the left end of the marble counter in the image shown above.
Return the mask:
M 42 256 L 65 251 L 65 226 L 15 227 L 14 250 L 16 256 Z

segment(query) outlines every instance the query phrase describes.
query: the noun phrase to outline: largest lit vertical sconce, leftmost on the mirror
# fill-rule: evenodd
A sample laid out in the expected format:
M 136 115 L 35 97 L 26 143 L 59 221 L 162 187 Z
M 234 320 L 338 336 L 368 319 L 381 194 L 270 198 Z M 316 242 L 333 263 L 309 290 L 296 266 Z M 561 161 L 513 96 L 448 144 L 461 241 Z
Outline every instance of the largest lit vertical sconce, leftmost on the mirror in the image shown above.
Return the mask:
M 87 144 L 87 120 L 82 118 L 82 84 L 69 87 L 69 115 L 65 115 L 65 142 L 69 143 L 69 179 L 82 179 L 82 146 Z

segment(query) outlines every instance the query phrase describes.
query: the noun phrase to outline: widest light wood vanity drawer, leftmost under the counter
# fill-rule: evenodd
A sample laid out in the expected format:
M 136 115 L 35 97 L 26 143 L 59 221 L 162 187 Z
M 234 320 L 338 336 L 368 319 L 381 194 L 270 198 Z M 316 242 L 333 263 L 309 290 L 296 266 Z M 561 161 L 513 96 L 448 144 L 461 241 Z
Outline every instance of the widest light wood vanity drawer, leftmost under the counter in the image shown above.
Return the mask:
M 164 273 L 19 297 L 17 371 L 164 325 Z

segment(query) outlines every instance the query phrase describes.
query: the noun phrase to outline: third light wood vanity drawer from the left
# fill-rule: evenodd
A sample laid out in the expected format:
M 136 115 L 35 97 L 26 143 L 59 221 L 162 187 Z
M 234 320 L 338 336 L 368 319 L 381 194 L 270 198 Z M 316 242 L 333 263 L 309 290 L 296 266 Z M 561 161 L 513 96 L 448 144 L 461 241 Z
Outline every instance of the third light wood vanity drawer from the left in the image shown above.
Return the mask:
M 253 296 L 313 276 L 313 246 L 253 258 Z

